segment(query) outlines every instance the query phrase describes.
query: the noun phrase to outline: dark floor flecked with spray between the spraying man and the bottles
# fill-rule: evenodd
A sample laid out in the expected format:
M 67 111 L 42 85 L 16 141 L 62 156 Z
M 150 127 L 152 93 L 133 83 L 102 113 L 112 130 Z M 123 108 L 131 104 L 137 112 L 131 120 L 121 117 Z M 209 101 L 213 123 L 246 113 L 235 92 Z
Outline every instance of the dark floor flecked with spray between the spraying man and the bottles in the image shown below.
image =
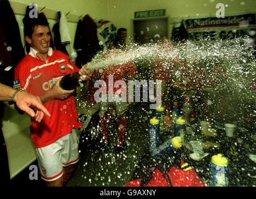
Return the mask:
M 110 143 L 103 146 L 102 135 L 97 128 L 95 116 L 87 130 L 80 136 L 80 162 L 75 175 L 67 183 L 68 187 L 83 186 L 123 186 L 129 180 L 138 178 L 141 158 L 148 153 L 148 124 L 151 117 L 149 104 L 135 104 L 128 113 L 128 134 L 123 151 L 115 150 L 116 121 L 112 119 Z M 94 135 L 96 132 L 97 135 Z M 93 135 L 93 136 L 91 136 Z

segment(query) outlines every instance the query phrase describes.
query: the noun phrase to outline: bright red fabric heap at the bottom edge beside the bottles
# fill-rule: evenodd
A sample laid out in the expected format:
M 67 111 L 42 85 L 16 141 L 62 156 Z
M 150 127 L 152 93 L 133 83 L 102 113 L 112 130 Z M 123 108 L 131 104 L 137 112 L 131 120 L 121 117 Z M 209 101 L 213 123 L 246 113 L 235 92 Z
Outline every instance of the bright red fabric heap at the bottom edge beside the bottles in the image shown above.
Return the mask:
M 190 167 L 191 168 L 191 167 Z M 183 170 L 171 167 L 168 174 L 156 167 L 151 179 L 144 187 L 206 187 L 194 169 Z M 132 180 L 125 187 L 141 187 L 141 179 Z

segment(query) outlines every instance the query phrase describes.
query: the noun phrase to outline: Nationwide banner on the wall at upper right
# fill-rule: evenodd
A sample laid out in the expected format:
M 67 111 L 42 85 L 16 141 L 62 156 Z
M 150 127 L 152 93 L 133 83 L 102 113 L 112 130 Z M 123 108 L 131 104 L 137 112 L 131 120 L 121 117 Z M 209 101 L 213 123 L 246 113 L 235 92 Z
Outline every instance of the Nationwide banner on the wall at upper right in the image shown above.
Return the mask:
M 238 16 L 187 19 L 183 24 L 191 40 L 226 40 L 248 35 L 254 41 L 256 33 L 255 14 Z

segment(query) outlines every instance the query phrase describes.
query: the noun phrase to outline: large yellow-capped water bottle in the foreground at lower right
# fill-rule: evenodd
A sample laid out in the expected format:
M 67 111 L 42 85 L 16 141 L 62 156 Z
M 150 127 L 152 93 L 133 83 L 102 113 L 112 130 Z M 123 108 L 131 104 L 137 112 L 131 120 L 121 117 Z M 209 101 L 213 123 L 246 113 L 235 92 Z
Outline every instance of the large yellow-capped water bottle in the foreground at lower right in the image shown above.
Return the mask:
M 227 187 L 229 185 L 229 160 L 222 154 L 212 156 L 210 182 L 211 187 Z

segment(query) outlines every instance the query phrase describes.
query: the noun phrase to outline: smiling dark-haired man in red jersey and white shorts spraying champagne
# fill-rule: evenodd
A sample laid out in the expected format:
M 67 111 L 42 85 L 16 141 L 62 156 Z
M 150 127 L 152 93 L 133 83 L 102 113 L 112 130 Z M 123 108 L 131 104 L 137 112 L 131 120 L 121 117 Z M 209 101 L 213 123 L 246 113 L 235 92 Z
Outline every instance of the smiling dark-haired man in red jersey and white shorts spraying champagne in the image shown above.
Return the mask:
M 41 123 L 31 120 L 31 137 L 42 179 L 48 186 L 62 186 L 64 176 L 72 173 L 79 159 L 75 129 L 82 124 L 78 122 L 74 90 L 62 90 L 59 83 L 62 76 L 69 73 L 79 72 L 82 80 L 90 78 L 90 73 L 85 67 L 79 70 L 67 55 L 49 47 L 47 19 L 31 19 L 24 36 L 31 50 L 16 67 L 14 88 L 24 88 L 28 93 L 40 96 L 51 114 Z

